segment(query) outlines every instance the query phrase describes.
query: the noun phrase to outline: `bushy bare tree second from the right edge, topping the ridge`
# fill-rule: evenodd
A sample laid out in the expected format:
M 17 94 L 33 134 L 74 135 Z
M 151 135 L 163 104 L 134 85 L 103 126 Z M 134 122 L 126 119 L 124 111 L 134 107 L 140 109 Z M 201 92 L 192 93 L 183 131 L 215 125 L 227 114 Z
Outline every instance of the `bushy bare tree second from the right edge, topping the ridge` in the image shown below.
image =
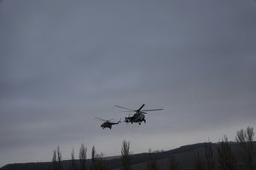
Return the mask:
M 218 162 L 223 170 L 234 170 L 236 168 L 236 156 L 232 152 L 228 137 L 217 144 Z

